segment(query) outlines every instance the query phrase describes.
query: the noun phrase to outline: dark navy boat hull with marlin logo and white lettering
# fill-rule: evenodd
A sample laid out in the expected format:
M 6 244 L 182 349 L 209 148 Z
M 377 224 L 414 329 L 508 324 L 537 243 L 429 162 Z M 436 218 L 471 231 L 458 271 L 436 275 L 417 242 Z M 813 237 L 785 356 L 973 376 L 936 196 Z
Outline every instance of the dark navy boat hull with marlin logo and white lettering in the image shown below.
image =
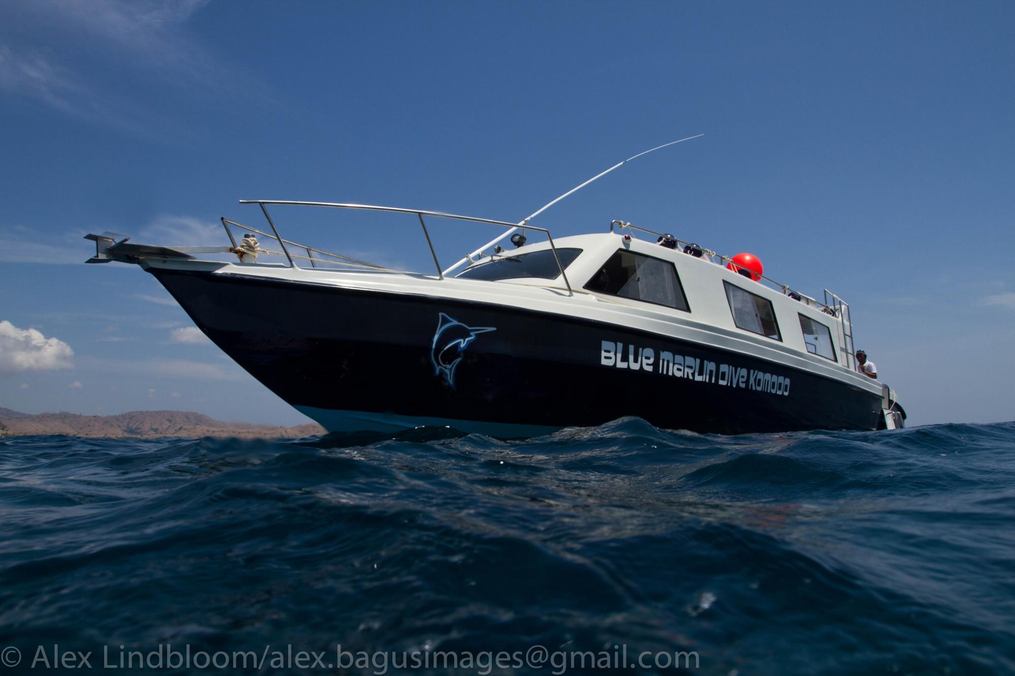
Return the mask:
M 849 383 L 624 327 L 426 295 L 151 267 L 198 327 L 332 431 L 523 435 L 635 415 L 742 433 L 877 429 Z

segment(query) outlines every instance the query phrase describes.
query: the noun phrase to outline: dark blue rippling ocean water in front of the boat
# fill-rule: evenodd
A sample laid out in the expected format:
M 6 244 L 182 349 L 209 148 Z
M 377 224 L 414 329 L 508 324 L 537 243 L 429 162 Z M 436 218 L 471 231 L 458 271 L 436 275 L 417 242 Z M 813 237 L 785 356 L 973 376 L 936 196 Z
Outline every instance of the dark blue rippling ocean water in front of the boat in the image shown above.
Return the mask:
M 1015 672 L 1015 423 L 14 437 L 0 520 L 0 675 Z

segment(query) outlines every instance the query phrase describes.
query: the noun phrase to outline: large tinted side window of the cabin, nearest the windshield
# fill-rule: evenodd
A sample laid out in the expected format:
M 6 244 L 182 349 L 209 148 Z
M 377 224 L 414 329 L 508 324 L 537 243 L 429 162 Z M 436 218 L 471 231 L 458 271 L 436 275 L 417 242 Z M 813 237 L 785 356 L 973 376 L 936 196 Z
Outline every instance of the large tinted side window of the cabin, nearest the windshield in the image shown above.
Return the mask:
M 585 288 L 690 312 L 673 263 L 630 251 L 611 256 Z

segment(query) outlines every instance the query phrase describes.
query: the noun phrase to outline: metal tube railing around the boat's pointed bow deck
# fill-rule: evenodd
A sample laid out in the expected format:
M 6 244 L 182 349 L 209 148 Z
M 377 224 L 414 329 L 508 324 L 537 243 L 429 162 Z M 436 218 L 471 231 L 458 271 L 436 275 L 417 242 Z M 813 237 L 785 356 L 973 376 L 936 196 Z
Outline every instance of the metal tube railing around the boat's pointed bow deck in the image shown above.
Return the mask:
M 573 295 L 574 294 L 574 292 L 571 290 L 570 281 L 568 281 L 568 279 L 567 279 L 567 273 L 564 272 L 564 266 L 560 263 L 560 257 L 557 255 L 557 248 L 553 244 L 553 238 L 550 235 L 550 231 L 548 229 L 546 229 L 545 227 L 537 227 L 535 225 L 528 225 L 528 224 L 520 225 L 519 223 L 511 223 L 511 222 L 503 221 L 503 220 L 492 220 L 490 218 L 478 218 L 476 216 L 463 216 L 463 215 L 460 215 L 460 214 L 445 213 L 445 212 L 442 212 L 442 211 L 427 211 L 427 210 L 424 210 L 424 209 L 404 209 L 404 208 L 401 208 L 401 207 L 386 207 L 386 206 L 377 206 L 377 205 L 371 205 L 371 204 L 343 204 L 343 203 L 338 203 L 338 202 L 299 202 L 299 201 L 293 201 L 293 200 L 240 200 L 240 203 L 241 204 L 257 204 L 258 206 L 261 207 L 261 211 L 264 213 L 264 217 L 268 221 L 268 225 L 271 227 L 271 232 L 272 233 L 264 232 L 262 230 L 256 230 L 254 228 L 248 228 L 248 229 L 250 229 L 250 230 L 252 230 L 254 232 L 258 232 L 258 233 L 260 233 L 260 234 L 262 234 L 264 236 L 272 238 L 273 240 L 277 241 L 278 244 L 279 244 L 279 247 L 282 249 L 281 255 L 284 255 L 285 258 L 286 258 L 286 260 L 288 260 L 290 268 L 298 268 L 299 267 L 299 266 L 296 265 L 296 263 L 295 263 L 295 261 L 293 259 L 304 259 L 304 260 L 309 260 L 311 262 L 311 267 L 317 267 L 318 263 L 328 263 L 328 264 L 332 264 L 332 265 L 352 265 L 352 266 L 358 266 L 358 267 L 367 267 L 367 268 L 370 268 L 370 269 L 377 270 L 377 271 L 395 272 L 393 270 L 390 270 L 389 268 L 385 268 L 384 266 L 375 265 L 373 263 L 366 263 L 364 261 L 357 261 L 355 259 L 351 259 L 351 258 L 348 258 L 346 256 L 340 256 L 338 254 L 332 254 L 330 252 L 326 252 L 326 251 L 321 250 L 321 249 L 316 249 L 314 247 L 308 247 L 307 245 L 301 245 L 301 244 L 298 244 L 296 242 L 292 242 L 291 240 L 284 240 L 284 239 L 282 239 L 282 236 L 278 232 L 278 228 L 275 226 L 275 221 L 272 219 L 271 214 L 268 213 L 268 208 L 267 208 L 266 205 L 271 204 L 271 205 L 282 205 L 282 206 L 311 206 L 311 207 L 326 207 L 326 208 L 334 208 L 334 209 L 358 209 L 358 210 L 364 210 L 364 211 L 386 211 L 386 212 L 389 212 L 389 213 L 415 214 L 415 216 L 419 219 L 419 225 L 420 225 L 420 227 L 422 227 L 423 236 L 426 239 L 426 246 L 429 248 L 430 256 L 433 259 L 433 265 L 436 267 L 436 270 L 437 270 L 437 279 L 444 279 L 445 278 L 445 273 L 444 273 L 444 271 L 441 268 L 441 264 L 437 262 L 437 255 L 436 255 L 436 252 L 433 250 L 433 243 L 430 241 L 430 234 L 429 234 L 429 231 L 426 229 L 426 221 L 423 220 L 423 216 L 430 216 L 430 217 L 434 217 L 434 218 L 450 218 L 452 220 L 464 220 L 464 221 L 468 221 L 468 222 L 485 223 L 485 224 L 489 224 L 489 225 L 499 225 L 499 226 L 502 226 L 502 227 L 511 228 L 509 230 L 509 232 L 512 231 L 512 230 L 514 230 L 514 229 L 517 229 L 518 227 L 521 226 L 524 229 L 535 230 L 537 232 L 542 232 L 542 233 L 544 233 L 546 235 L 546 240 L 550 244 L 550 250 L 553 252 L 553 259 L 556 261 L 557 268 L 560 270 L 560 276 L 563 278 L 564 285 L 567 287 L 567 295 Z M 232 226 L 235 226 L 235 227 L 247 227 L 247 226 L 244 225 L 244 224 L 242 224 L 242 223 L 238 223 L 236 221 L 228 220 L 226 218 L 222 218 L 222 226 L 225 228 L 225 231 L 226 231 L 226 233 L 229 236 L 229 242 L 231 242 L 233 248 L 235 248 L 236 247 L 236 242 L 235 242 L 235 239 L 232 236 L 232 232 L 229 230 L 229 225 L 232 225 Z M 494 243 L 498 242 L 498 241 L 499 240 L 495 240 Z M 490 246 L 492 246 L 492 244 L 493 243 L 491 243 Z M 300 256 L 300 255 L 293 255 L 293 254 L 291 254 L 289 252 L 288 248 L 286 247 L 286 245 L 291 245 L 293 247 L 306 250 L 307 251 L 307 256 Z M 484 249 L 485 249 L 485 247 L 484 247 Z M 332 257 L 334 259 L 337 259 L 337 261 L 326 261 L 326 260 L 322 260 L 321 258 L 315 259 L 314 258 L 314 252 L 317 252 L 317 253 L 325 255 L 325 256 L 330 256 L 330 257 Z M 268 252 L 268 251 L 266 251 L 266 253 L 272 253 L 272 254 L 274 254 L 276 252 Z M 482 258 L 482 254 L 481 253 L 479 254 L 479 257 Z M 473 260 L 472 256 L 467 256 L 466 258 L 469 261 L 471 261 L 471 262 L 475 262 Z M 449 270 L 454 269 L 454 267 L 456 267 L 456 266 L 452 266 L 452 268 L 449 268 Z

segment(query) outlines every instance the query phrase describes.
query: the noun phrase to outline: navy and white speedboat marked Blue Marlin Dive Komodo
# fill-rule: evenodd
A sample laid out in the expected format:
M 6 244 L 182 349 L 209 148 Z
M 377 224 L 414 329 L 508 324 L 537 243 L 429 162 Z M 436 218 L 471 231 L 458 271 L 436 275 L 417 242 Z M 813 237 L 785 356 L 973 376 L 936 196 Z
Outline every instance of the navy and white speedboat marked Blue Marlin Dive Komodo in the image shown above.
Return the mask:
M 268 228 L 222 218 L 227 247 L 88 234 L 88 262 L 140 265 L 238 364 L 329 431 L 448 425 L 512 437 L 621 416 L 724 434 L 904 424 L 895 393 L 857 370 L 849 305 L 827 289 L 819 300 L 771 281 L 750 255 L 722 256 L 619 220 L 554 239 L 529 219 L 242 203 L 258 205 Z M 274 205 L 418 220 L 435 271 L 391 270 L 286 240 Z M 504 233 L 442 269 L 427 230 L 436 219 Z M 271 255 L 281 262 L 266 262 Z

